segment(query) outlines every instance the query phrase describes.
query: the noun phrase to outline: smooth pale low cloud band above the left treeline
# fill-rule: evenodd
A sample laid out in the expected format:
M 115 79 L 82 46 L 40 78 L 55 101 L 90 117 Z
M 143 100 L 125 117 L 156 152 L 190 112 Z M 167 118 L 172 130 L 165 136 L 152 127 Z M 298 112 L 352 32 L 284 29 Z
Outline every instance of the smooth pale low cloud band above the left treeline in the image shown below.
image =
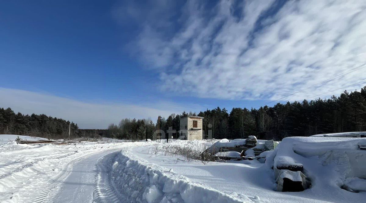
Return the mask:
M 159 102 L 146 105 L 128 104 L 93 104 L 73 99 L 56 97 L 49 94 L 31 91 L 0 88 L 0 106 L 10 107 L 14 112 L 23 114 L 46 114 L 57 118 L 73 121 L 79 128 L 105 129 L 111 123 L 118 124 L 123 118 L 148 118 L 153 121 L 157 116 L 169 116 L 181 113 L 182 109 L 199 110 L 197 105 L 183 107 L 175 103 Z M 194 109 L 193 109 L 194 108 Z

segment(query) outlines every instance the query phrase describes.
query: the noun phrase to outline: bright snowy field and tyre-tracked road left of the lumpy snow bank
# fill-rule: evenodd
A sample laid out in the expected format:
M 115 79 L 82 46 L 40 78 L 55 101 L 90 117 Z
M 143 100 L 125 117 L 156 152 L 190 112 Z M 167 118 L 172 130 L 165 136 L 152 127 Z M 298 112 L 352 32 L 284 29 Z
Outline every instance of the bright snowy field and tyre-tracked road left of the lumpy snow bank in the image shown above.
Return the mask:
M 4 203 L 123 201 L 126 198 L 115 193 L 110 181 L 114 158 L 120 150 L 152 143 L 107 140 L 31 146 L 16 144 L 12 140 L 17 137 L 0 135 L 0 202 Z

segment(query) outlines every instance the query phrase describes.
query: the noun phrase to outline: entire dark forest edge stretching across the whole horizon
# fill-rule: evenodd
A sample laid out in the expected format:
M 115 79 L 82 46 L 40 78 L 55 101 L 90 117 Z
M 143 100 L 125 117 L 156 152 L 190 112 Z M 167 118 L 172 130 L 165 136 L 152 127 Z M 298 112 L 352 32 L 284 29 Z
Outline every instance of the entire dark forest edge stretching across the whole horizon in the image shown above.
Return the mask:
M 179 117 L 171 114 L 161 121 L 161 129 L 179 130 Z M 196 115 L 195 113 L 188 113 Z M 287 102 L 259 109 L 233 108 L 206 110 L 197 116 L 203 119 L 203 133 L 212 131 L 212 138 L 235 139 L 255 135 L 259 139 L 281 140 L 290 136 L 310 136 L 323 133 L 366 131 L 366 86 L 361 91 L 344 91 L 339 97 L 315 99 L 310 102 Z M 45 138 L 68 138 L 70 121 L 45 114 L 15 114 L 10 108 L 0 108 L 0 133 L 25 134 Z M 71 122 L 71 138 L 113 137 L 117 139 L 144 139 L 146 131 L 156 129 L 151 119 L 123 119 L 108 129 L 79 129 Z

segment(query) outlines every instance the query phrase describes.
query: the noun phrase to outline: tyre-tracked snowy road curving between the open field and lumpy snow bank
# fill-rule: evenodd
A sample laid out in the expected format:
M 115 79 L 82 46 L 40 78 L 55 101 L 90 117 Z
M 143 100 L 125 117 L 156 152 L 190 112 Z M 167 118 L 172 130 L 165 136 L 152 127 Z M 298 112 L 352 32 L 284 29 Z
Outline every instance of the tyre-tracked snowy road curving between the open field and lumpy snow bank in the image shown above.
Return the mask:
M 61 176 L 55 188 L 46 189 L 36 202 L 120 202 L 123 197 L 110 181 L 110 167 L 119 151 L 102 151 L 71 163 L 66 179 Z

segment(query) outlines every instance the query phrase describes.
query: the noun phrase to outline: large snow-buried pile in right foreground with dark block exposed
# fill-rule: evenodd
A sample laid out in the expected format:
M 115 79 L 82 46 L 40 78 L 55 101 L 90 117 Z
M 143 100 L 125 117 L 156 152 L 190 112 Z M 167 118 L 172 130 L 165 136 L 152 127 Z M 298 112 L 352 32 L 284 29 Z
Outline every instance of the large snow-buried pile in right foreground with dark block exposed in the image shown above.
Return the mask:
M 364 144 L 364 138 L 284 138 L 265 165 L 273 167 L 279 191 L 362 191 L 352 189 L 358 184 L 350 184 L 349 178 L 366 178 L 366 151 L 359 147 Z

